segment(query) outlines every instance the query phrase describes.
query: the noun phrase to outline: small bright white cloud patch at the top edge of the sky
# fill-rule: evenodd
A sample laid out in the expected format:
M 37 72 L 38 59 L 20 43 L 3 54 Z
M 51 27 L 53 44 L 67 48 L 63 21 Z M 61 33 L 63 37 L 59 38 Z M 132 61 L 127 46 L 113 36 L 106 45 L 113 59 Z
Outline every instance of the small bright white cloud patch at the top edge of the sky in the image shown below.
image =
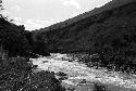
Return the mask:
M 81 9 L 81 4 L 75 0 L 62 0 L 64 5 L 73 5 L 76 9 Z

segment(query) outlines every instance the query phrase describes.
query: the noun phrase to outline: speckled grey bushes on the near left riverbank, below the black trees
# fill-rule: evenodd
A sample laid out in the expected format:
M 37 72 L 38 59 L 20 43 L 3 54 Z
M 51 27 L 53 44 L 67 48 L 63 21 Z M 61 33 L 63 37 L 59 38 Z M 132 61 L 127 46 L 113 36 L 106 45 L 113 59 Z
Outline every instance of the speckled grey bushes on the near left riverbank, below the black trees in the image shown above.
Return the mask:
M 1 91 L 64 91 L 53 73 L 33 73 L 27 58 L 9 58 L 8 65 L 0 63 Z

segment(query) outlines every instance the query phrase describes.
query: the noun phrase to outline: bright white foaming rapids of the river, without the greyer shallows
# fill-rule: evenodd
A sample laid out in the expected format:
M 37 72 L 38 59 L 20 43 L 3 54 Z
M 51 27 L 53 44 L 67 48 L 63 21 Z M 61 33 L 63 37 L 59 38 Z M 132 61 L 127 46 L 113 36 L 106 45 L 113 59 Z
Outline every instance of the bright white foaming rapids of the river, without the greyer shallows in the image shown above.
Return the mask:
M 136 90 L 136 76 L 128 76 L 118 72 L 108 72 L 104 68 L 89 68 L 85 64 L 77 62 L 69 62 L 72 60 L 67 54 L 51 53 L 51 56 L 32 58 L 34 65 L 38 65 L 38 69 L 49 72 L 62 72 L 67 74 L 69 79 L 63 80 L 69 84 L 76 86 L 79 79 L 87 81 L 99 81 L 106 84 L 120 86 Z M 73 81 L 74 80 L 74 81 Z

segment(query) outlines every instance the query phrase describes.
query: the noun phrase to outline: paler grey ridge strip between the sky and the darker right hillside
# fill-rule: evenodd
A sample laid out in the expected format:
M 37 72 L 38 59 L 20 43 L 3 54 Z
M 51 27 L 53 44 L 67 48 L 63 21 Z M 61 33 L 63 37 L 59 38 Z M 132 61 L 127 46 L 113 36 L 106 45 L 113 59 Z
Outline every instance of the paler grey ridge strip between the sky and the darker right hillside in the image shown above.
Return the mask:
M 53 29 L 57 29 L 57 28 L 63 28 L 67 25 L 76 23 L 76 22 L 78 22 L 81 20 L 84 20 L 86 17 L 89 17 L 91 15 L 99 14 L 99 13 L 104 12 L 107 10 L 111 10 L 111 9 L 114 9 L 114 8 L 121 6 L 121 5 L 126 4 L 126 3 L 131 3 L 131 2 L 135 2 L 135 0 L 112 0 L 109 3 L 106 3 L 103 6 L 95 8 L 92 11 L 85 12 L 85 13 L 79 14 L 79 15 L 73 17 L 73 18 L 69 18 L 64 22 L 60 22 L 60 23 L 57 23 L 57 24 L 51 25 L 49 27 L 41 28 L 40 31 L 53 30 Z

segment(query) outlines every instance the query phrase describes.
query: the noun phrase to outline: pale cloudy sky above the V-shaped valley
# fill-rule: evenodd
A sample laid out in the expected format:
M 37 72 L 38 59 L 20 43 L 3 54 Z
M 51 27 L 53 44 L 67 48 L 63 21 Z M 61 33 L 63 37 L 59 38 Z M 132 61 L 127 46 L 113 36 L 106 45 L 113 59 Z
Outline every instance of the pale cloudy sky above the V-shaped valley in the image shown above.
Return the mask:
M 34 30 L 74 17 L 111 0 L 3 0 L 4 15 Z

